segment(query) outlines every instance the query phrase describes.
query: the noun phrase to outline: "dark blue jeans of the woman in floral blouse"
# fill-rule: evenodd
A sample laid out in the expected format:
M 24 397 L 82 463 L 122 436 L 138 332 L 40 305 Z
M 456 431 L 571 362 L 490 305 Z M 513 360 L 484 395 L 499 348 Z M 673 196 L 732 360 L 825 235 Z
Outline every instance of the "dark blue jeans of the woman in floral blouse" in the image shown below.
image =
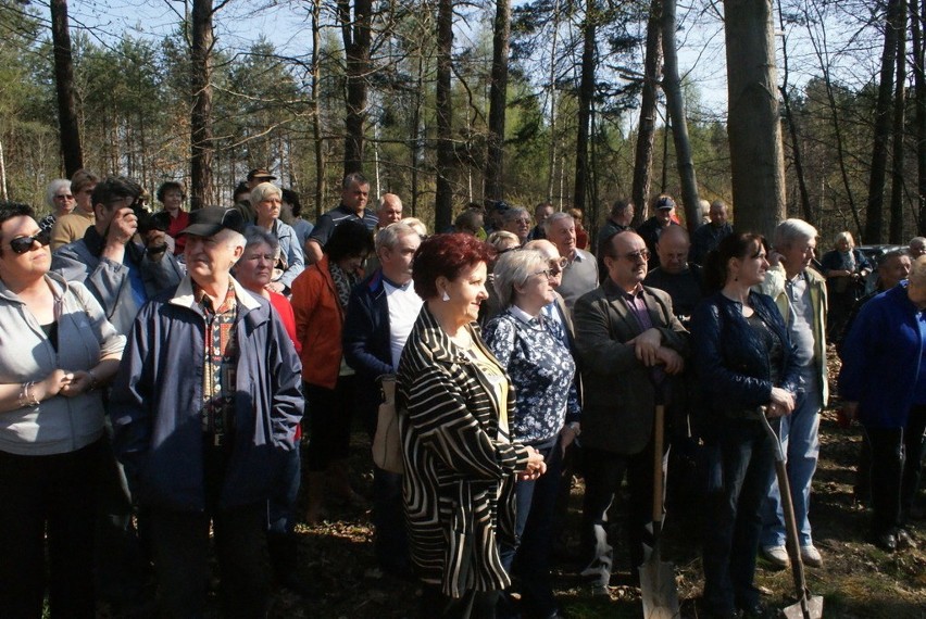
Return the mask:
M 515 543 L 499 544 L 505 570 L 521 580 L 522 607 L 527 617 L 549 617 L 556 610 L 550 583 L 550 552 L 563 453 L 559 440 L 538 451 L 547 463 L 547 472 L 535 480 L 517 482 L 514 490 Z M 516 616 L 504 603 L 499 608 L 499 617 Z

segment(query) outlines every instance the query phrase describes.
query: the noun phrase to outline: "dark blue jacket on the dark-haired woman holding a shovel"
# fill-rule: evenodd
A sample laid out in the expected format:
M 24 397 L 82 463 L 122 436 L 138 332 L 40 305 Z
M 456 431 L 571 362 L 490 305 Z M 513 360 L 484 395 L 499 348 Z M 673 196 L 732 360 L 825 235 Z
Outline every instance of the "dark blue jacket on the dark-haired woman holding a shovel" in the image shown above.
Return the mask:
M 743 318 L 742 304 L 716 292 L 698 305 L 691 318 L 698 376 L 712 412 L 724 417 L 740 417 L 768 404 L 773 387 L 797 393 L 800 384 L 794 349 L 775 302 L 758 292 L 750 292 L 749 301 L 781 340 L 778 384 L 772 383 L 768 351 Z

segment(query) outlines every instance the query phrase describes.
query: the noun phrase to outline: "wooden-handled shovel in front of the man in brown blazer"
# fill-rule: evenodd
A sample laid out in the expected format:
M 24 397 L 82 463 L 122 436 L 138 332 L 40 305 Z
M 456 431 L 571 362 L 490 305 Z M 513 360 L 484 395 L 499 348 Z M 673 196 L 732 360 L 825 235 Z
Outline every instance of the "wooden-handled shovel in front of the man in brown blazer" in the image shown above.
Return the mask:
M 655 387 L 655 427 L 653 428 L 653 547 L 643 546 L 646 560 L 640 570 L 640 591 L 643 597 L 645 619 L 673 619 L 679 617 L 678 591 L 675 589 L 675 567 L 661 557 L 663 519 L 662 443 L 665 419 L 665 396 Z

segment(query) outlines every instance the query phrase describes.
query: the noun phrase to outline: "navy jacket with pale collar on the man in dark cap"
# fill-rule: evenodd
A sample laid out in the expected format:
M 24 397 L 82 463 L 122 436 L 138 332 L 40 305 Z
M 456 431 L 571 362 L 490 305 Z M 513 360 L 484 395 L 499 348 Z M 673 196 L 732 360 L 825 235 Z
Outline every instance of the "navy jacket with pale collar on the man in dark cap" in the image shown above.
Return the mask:
M 238 298 L 235 442 L 220 504 L 265 501 L 283 453 L 296 449 L 301 364 L 279 317 L 234 282 Z M 204 317 L 189 277 L 139 312 L 110 399 L 113 447 L 140 503 L 205 508 L 202 462 Z

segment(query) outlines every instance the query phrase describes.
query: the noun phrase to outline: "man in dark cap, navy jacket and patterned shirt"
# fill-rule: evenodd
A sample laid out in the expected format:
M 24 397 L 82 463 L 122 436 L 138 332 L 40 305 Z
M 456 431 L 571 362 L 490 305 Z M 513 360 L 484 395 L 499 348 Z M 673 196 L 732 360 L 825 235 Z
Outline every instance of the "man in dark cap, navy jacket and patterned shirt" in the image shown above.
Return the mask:
M 267 480 L 297 449 L 301 366 L 270 304 L 229 275 L 243 229 L 235 210 L 190 215 L 188 275 L 141 308 L 113 387 L 114 447 L 149 508 L 166 617 L 204 614 L 210 522 L 223 615 L 267 610 Z

